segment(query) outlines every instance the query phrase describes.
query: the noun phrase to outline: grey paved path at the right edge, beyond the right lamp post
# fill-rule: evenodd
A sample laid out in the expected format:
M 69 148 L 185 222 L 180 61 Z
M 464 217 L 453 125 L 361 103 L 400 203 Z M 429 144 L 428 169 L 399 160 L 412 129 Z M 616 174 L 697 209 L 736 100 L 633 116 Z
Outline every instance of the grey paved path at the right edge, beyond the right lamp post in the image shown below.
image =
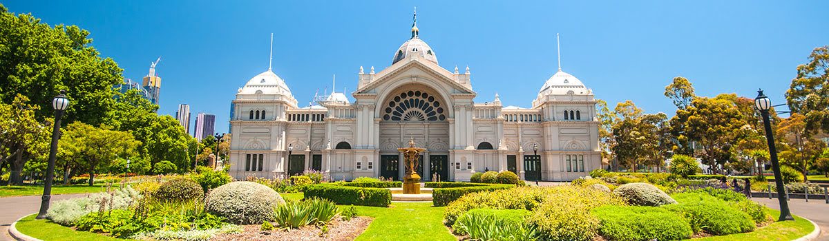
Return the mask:
M 777 198 L 752 198 L 751 200 L 765 204 L 768 208 L 780 210 L 780 204 Z M 812 220 L 818 226 L 821 226 L 821 236 L 817 240 L 829 241 L 829 204 L 823 200 L 809 200 L 806 202 L 802 199 L 792 199 L 788 201 L 788 209 L 794 215 L 805 217 Z M 778 217 L 774 217 L 776 220 Z

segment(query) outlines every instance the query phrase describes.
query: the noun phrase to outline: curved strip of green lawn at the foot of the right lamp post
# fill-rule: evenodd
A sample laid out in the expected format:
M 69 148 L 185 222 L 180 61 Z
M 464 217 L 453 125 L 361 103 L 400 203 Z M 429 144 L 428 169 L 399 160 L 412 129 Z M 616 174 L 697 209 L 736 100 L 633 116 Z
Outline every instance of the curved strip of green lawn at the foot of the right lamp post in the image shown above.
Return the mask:
M 780 211 L 771 210 L 773 217 L 780 215 Z M 793 240 L 812 233 L 815 226 L 812 222 L 794 216 L 794 221 L 774 222 L 753 232 L 744 234 L 730 234 L 725 236 L 712 236 L 701 239 L 686 239 L 694 241 L 725 241 L 725 240 Z

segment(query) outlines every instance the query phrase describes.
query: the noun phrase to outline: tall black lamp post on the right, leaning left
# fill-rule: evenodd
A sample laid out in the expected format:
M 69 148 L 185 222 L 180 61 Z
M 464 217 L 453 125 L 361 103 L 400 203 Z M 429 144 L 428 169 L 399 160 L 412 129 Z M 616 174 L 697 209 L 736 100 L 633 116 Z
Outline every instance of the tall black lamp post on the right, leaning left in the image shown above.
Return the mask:
M 784 191 L 786 186 L 783 185 L 783 176 L 780 175 L 780 163 L 777 159 L 777 150 L 774 148 L 771 121 L 768 121 L 768 110 L 772 107 L 772 101 L 763 94 L 762 89 L 757 92 L 757 98 L 754 99 L 754 107 L 763 116 L 763 125 L 766 129 L 766 140 L 768 141 L 768 154 L 771 156 L 772 169 L 774 171 L 774 183 L 778 187 L 778 201 L 780 201 L 780 218 L 778 221 L 794 220 L 792 213 L 788 210 L 788 202 L 786 201 L 786 193 Z

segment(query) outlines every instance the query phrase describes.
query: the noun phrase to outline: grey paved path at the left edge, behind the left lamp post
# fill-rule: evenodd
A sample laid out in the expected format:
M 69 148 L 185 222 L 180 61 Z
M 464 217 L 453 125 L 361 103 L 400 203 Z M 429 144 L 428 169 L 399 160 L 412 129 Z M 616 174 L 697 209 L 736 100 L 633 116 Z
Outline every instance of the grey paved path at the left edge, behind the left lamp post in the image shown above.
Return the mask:
M 85 193 L 54 195 L 51 203 L 61 199 L 85 196 Z M 0 240 L 14 240 L 8 235 L 8 227 L 17 219 L 31 215 L 41 209 L 41 196 L 0 197 Z

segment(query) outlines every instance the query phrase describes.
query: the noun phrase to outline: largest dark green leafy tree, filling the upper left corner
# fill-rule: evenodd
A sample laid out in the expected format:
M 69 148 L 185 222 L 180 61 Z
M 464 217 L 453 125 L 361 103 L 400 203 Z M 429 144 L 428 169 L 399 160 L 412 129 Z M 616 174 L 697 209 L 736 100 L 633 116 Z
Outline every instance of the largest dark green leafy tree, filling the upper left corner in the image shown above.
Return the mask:
M 0 102 L 16 94 L 40 106 L 36 119 L 52 116 L 51 99 L 66 90 L 72 105 L 64 123 L 104 123 L 113 105 L 112 86 L 122 69 L 90 46 L 90 32 L 78 26 L 51 27 L 28 14 L 15 16 L 0 6 Z

